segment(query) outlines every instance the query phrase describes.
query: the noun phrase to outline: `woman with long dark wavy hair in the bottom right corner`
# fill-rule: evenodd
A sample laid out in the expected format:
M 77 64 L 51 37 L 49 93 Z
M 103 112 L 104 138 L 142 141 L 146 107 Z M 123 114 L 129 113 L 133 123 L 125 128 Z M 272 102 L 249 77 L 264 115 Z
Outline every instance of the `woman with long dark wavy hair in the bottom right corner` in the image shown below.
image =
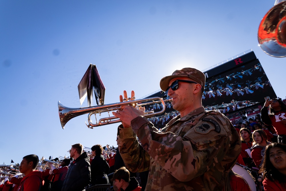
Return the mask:
M 264 157 L 260 169 L 264 178 L 264 190 L 286 190 L 286 145 L 281 143 L 267 145 Z

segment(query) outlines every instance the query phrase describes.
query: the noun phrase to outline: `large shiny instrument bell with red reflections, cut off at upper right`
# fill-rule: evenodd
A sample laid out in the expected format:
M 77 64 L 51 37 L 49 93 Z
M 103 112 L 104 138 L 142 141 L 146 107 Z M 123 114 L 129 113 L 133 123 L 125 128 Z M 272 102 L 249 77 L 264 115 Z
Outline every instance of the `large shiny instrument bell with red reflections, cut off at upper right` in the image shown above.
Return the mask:
M 274 57 L 286 56 L 286 1 L 273 6 L 263 17 L 258 28 L 261 49 Z

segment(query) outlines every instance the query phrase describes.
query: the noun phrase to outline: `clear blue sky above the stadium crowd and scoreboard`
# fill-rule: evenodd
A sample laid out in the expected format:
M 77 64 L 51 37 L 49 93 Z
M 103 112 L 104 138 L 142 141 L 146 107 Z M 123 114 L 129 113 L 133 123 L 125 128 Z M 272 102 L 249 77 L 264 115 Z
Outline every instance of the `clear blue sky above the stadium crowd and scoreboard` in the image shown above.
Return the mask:
M 118 124 L 88 129 L 87 115 L 63 130 L 57 102 L 78 108 L 90 63 L 106 86 L 140 98 L 174 70 L 204 70 L 253 49 L 277 96 L 285 98 L 285 59 L 265 54 L 257 29 L 269 0 L 0 1 L 0 164 L 23 156 L 68 156 L 74 143 L 116 146 Z M 87 107 L 85 101 L 82 107 Z

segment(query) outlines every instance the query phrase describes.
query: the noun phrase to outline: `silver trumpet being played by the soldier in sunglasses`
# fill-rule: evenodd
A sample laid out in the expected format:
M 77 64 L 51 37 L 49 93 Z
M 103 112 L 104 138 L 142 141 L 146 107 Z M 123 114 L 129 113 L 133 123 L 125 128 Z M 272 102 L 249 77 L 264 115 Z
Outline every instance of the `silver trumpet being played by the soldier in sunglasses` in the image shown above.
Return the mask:
M 121 106 L 124 105 L 133 105 L 136 108 L 139 108 L 140 106 L 144 107 L 144 105 L 150 105 L 150 104 L 155 104 L 155 103 L 162 103 L 162 109 L 158 112 L 153 112 L 153 111 L 148 111 L 144 113 L 144 117 L 149 118 L 153 117 L 154 115 L 159 115 L 161 113 L 164 113 L 166 109 L 165 102 L 172 102 L 171 99 L 166 99 L 163 100 L 160 97 L 153 97 L 153 98 L 146 98 L 146 99 L 139 99 L 139 100 L 132 100 L 132 101 L 125 101 L 125 102 L 120 102 L 120 103 L 114 103 L 114 104 L 107 104 L 107 105 L 99 105 L 99 106 L 92 106 L 92 107 L 84 107 L 84 108 L 69 108 L 63 106 L 60 102 L 58 103 L 59 106 L 59 119 L 61 121 L 61 127 L 64 129 L 65 124 L 72 118 L 83 115 L 83 114 L 88 114 L 88 128 L 93 129 L 93 127 L 101 126 L 101 125 L 107 125 L 107 124 L 112 124 L 112 123 L 118 123 L 121 122 L 120 119 L 117 117 L 113 116 L 110 117 L 109 112 L 110 111 L 116 111 L 120 110 Z M 90 117 L 93 114 L 99 114 L 101 113 L 108 112 L 109 117 L 102 118 L 98 122 L 96 120 L 96 123 L 92 123 Z

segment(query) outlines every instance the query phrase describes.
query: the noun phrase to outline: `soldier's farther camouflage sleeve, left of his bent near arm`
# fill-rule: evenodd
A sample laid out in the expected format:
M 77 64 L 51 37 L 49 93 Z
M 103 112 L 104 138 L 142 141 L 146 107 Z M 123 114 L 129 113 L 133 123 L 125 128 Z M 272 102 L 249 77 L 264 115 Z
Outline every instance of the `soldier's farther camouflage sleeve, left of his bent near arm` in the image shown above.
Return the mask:
M 150 155 L 139 144 L 131 128 L 119 126 L 118 147 L 124 164 L 131 172 L 149 170 Z

